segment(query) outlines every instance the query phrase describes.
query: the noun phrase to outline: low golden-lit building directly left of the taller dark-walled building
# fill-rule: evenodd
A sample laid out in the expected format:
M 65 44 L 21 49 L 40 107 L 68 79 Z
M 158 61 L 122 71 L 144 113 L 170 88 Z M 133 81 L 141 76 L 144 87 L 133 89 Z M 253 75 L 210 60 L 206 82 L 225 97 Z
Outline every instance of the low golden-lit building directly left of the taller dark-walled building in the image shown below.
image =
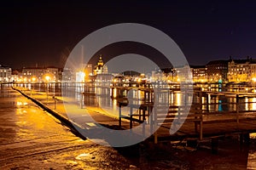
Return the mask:
M 207 82 L 207 67 L 205 65 L 191 65 L 193 82 Z

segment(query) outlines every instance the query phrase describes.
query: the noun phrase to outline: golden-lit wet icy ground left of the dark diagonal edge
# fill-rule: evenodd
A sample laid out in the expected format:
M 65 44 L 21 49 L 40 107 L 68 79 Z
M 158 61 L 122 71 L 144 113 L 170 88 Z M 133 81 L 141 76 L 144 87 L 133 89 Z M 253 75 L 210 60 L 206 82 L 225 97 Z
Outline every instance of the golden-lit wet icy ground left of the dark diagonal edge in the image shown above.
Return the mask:
M 0 169 L 125 169 L 117 150 L 79 139 L 11 88 L 0 94 Z

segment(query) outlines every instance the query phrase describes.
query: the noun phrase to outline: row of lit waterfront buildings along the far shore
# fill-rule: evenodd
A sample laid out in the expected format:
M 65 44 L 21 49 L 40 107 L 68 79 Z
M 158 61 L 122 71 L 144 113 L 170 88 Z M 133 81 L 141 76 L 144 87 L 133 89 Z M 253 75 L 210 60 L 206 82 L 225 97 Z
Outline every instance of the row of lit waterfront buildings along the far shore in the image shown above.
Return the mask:
M 191 74 L 192 73 L 192 74 Z M 153 70 L 146 75 L 148 82 L 186 82 L 188 75 L 193 76 L 196 83 L 251 83 L 256 84 L 256 60 L 226 59 L 213 60 L 207 65 L 183 65 L 176 68 Z M 56 67 L 27 67 L 19 74 L 11 75 L 11 68 L 0 66 L 0 82 L 109 82 L 115 75 L 108 73 L 108 66 L 104 65 L 102 56 L 96 65 L 81 64 L 76 68 Z M 140 77 L 126 77 L 125 80 L 140 80 Z

